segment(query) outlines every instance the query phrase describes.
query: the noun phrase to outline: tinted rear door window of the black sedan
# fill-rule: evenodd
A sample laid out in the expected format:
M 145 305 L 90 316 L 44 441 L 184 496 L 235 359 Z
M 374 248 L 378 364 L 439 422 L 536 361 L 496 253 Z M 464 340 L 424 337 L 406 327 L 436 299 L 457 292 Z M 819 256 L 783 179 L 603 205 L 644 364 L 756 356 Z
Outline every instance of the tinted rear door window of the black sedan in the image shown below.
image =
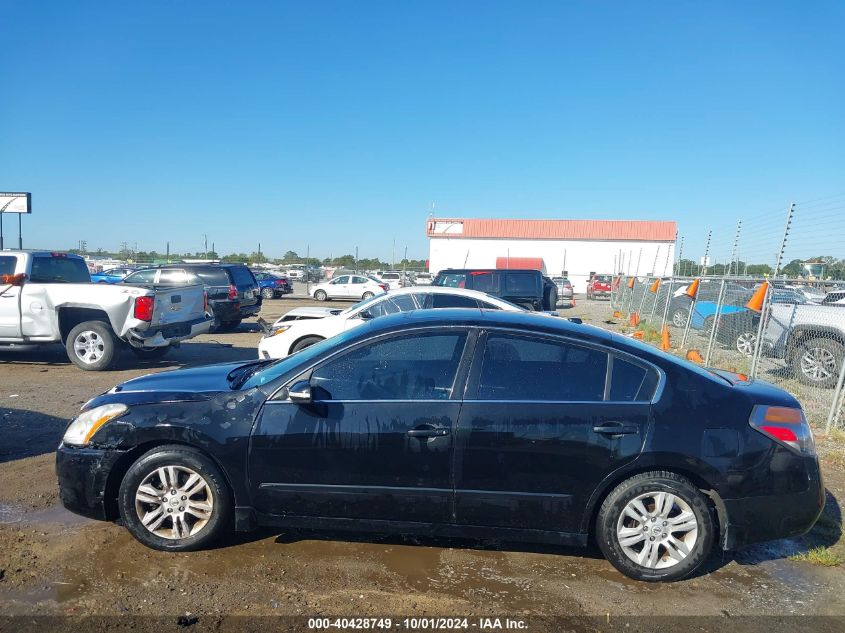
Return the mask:
M 568 342 L 491 334 L 483 351 L 477 398 L 601 402 L 607 359 L 606 352 Z

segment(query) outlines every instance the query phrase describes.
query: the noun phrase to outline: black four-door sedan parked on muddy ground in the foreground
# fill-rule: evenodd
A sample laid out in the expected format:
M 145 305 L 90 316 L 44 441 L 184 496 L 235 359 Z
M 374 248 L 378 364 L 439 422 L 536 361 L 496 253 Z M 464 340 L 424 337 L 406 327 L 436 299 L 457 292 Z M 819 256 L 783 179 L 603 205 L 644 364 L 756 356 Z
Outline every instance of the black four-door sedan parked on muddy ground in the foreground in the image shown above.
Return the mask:
M 58 449 L 61 498 L 183 551 L 258 525 L 586 545 L 671 580 L 808 530 L 799 403 L 547 315 L 422 310 L 280 361 L 145 376 Z

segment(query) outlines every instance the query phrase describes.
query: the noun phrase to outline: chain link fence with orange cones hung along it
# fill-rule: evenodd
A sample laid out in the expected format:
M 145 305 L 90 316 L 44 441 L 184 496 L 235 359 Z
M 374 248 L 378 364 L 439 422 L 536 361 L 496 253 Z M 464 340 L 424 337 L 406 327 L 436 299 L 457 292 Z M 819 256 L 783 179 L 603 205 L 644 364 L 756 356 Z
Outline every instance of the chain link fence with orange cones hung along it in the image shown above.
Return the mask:
M 845 261 L 825 251 L 845 243 L 832 221 L 845 196 L 822 200 L 791 205 L 781 222 L 758 217 L 745 240 L 748 223 L 737 223 L 734 239 L 719 242 L 731 244 L 722 264 L 710 263 L 711 232 L 705 256 L 696 264 L 679 255 L 674 275 L 617 276 L 616 322 L 667 352 L 786 389 L 816 427 L 842 426 Z

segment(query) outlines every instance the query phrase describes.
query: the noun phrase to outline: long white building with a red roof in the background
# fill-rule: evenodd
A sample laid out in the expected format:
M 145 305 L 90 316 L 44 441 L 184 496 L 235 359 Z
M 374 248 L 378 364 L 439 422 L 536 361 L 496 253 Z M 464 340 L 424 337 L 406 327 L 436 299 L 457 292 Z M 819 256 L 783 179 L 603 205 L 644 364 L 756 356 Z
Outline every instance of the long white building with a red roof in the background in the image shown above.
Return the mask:
M 429 218 L 429 270 L 536 268 L 585 292 L 592 273 L 671 274 L 675 222 Z

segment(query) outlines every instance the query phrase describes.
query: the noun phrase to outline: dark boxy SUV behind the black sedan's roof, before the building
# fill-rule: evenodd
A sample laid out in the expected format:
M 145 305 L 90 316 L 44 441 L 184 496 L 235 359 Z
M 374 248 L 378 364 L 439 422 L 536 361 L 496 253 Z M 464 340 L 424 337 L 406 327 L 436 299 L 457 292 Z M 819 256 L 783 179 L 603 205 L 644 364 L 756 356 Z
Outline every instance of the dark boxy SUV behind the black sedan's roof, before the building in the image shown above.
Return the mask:
M 529 310 L 554 310 L 557 303 L 557 286 L 539 270 L 447 268 L 432 285 L 486 292 Z

